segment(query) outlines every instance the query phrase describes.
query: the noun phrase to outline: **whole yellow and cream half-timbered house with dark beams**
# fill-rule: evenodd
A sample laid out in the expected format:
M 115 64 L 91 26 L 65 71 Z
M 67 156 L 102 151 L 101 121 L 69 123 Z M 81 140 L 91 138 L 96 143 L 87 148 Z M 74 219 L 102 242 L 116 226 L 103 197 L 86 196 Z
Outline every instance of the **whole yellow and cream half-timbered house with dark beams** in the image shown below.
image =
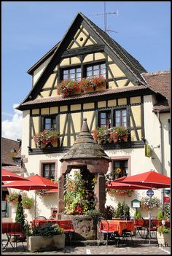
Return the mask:
M 127 142 L 103 144 L 112 158 L 109 173 L 113 172 L 114 178 L 117 168 L 120 177 L 151 169 L 170 176 L 169 71 L 147 73 L 120 44 L 79 12 L 63 39 L 28 74 L 33 78 L 32 89 L 17 107 L 23 111 L 21 153 L 27 174 L 58 179 L 60 158 L 77 139 L 86 117 L 90 131 L 104 125 L 122 125 L 130 131 Z M 86 88 L 85 93 L 70 96 L 58 92 L 62 80 L 100 75 L 107 79 L 103 87 Z M 35 143 L 34 135 L 44 129 L 60 131 L 56 144 L 42 148 Z M 145 144 L 152 148 L 149 157 L 145 156 Z M 125 200 L 130 205 L 133 198 L 145 195 L 141 190 Z M 161 198 L 161 191 L 155 195 Z M 58 206 L 57 195 L 37 200 L 37 214 L 45 217 Z M 106 204 L 117 206 L 117 200 L 121 198 L 113 200 L 107 195 Z M 28 217 L 34 216 L 26 211 Z

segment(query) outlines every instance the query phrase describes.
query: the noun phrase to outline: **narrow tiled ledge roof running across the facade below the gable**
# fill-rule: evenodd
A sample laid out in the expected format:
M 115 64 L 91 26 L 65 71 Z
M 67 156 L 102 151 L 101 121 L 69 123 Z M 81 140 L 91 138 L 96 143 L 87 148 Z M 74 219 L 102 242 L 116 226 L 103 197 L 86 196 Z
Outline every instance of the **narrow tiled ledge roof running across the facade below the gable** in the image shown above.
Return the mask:
M 33 104 L 41 104 L 46 102 L 58 102 L 58 101 L 72 101 L 77 100 L 80 98 L 93 98 L 97 96 L 104 96 L 109 94 L 115 93 L 122 93 L 122 92 L 129 92 L 134 90 L 145 90 L 146 86 L 138 85 L 138 86 L 129 86 L 123 88 L 116 88 L 116 89 L 106 89 L 106 90 L 99 90 L 92 93 L 83 93 L 83 94 L 74 94 L 74 96 L 55 96 L 55 97 L 47 97 L 47 98 L 37 98 L 32 101 L 26 101 L 22 104 L 22 106 L 33 105 Z

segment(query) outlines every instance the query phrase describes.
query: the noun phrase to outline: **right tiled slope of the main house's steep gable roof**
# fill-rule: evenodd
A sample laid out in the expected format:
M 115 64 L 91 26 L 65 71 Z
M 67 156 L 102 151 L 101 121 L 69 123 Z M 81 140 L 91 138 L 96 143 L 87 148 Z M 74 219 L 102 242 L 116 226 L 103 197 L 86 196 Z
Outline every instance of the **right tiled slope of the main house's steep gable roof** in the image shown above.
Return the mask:
M 136 74 L 137 77 L 141 80 L 141 82 L 144 82 L 144 79 L 141 77 L 141 73 L 146 72 L 146 69 L 144 69 L 143 66 L 136 60 L 136 58 L 133 58 L 132 55 L 130 55 L 120 44 L 114 41 L 112 37 L 110 37 L 106 32 L 104 32 L 101 28 L 98 28 L 98 26 L 95 25 L 90 19 L 88 19 L 85 15 L 83 15 L 81 12 L 79 12 L 82 17 L 87 20 L 87 23 L 90 24 L 90 26 L 95 30 L 95 32 L 101 36 L 101 39 L 103 39 L 106 44 L 109 45 L 109 47 L 112 48 L 114 53 L 117 54 L 117 56 L 122 60 L 126 66 L 128 66 L 128 69 L 133 72 L 133 74 Z

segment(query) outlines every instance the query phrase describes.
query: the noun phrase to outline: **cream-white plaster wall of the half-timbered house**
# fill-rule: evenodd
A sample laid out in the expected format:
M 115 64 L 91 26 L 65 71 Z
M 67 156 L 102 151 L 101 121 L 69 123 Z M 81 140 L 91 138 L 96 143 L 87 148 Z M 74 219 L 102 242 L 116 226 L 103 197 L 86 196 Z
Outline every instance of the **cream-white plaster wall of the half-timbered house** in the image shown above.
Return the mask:
M 87 105 L 85 105 L 87 106 Z M 64 115 L 66 116 L 66 115 Z M 88 125 L 90 125 L 90 117 L 93 117 L 93 112 L 84 112 L 84 117 L 88 118 Z M 61 118 L 61 117 L 60 117 Z M 170 145 L 168 143 L 168 118 L 169 114 L 163 113 L 160 114 L 160 119 L 162 121 L 163 126 L 163 139 L 164 139 L 164 163 L 163 163 L 163 170 L 164 174 L 170 176 Z M 57 169 L 58 169 L 58 177 L 60 174 L 60 158 L 63 157 L 64 153 L 56 153 L 56 154 L 42 154 L 42 155 L 28 155 L 28 136 L 26 134 L 29 134 L 29 112 L 24 111 L 23 112 L 23 141 L 22 141 L 22 155 L 25 155 L 26 158 L 28 158 L 28 163 L 25 163 L 26 166 L 26 174 L 25 177 L 27 177 L 29 174 L 40 174 L 40 160 L 57 160 Z M 76 120 L 74 120 L 75 122 Z M 111 158 L 121 158 L 121 157 L 130 157 L 130 175 L 139 174 L 144 171 L 149 170 L 155 170 L 158 172 L 161 172 L 161 154 L 160 150 L 162 145 L 160 144 L 160 123 L 157 118 L 157 115 L 155 115 L 154 112 L 152 112 L 152 96 L 144 96 L 144 123 L 145 123 L 145 138 L 149 145 L 152 146 L 152 149 L 154 150 L 152 152 L 152 157 L 147 158 L 144 155 L 144 148 L 137 148 L 137 149 L 126 149 L 126 150 L 106 150 L 106 154 L 109 155 Z M 79 131 L 80 123 L 78 124 L 77 131 Z M 95 122 L 93 123 L 93 128 L 95 127 Z M 110 170 L 110 168 L 109 168 Z M 160 190 L 154 190 L 155 196 L 161 198 L 161 189 Z M 34 191 L 29 191 L 28 195 L 34 198 Z M 125 203 L 128 203 L 130 206 L 130 201 L 138 198 L 138 200 L 141 200 L 141 197 L 146 196 L 146 190 L 136 190 L 135 193 L 133 193 L 132 197 L 128 198 L 111 198 L 107 194 L 106 198 L 106 205 L 112 205 L 114 207 L 117 207 L 118 201 L 125 200 Z M 47 204 L 47 206 L 46 206 Z M 44 215 L 45 217 L 50 217 L 50 209 L 55 208 L 58 206 L 58 195 L 52 195 L 48 198 L 41 199 L 37 197 L 37 204 L 36 204 L 36 215 Z M 133 215 L 136 209 L 130 209 L 130 214 Z M 142 217 L 148 217 L 148 212 L 145 212 L 143 210 L 140 211 Z M 157 215 L 156 210 L 152 210 L 152 216 Z M 34 217 L 34 207 L 31 210 L 25 210 L 25 213 L 27 214 L 27 220 L 31 220 Z M 15 217 L 15 209 L 12 209 L 12 217 Z

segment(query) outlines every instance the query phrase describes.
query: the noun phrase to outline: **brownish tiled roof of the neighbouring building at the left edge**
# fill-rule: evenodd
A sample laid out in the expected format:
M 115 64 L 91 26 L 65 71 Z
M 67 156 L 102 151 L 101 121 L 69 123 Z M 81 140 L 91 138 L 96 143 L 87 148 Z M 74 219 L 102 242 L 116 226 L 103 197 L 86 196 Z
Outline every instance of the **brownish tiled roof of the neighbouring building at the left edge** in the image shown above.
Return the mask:
M 15 162 L 12 160 L 12 157 L 10 155 L 10 151 L 14 148 L 17 151 L 17 157 L 21 157 L 21 152 L 20 152 L 20 142 L 14 141 L 12 139 L 6 139 L 3 138 L 1 139 L 1 161 L 2 161 L 2 166 L 15 166 Z

